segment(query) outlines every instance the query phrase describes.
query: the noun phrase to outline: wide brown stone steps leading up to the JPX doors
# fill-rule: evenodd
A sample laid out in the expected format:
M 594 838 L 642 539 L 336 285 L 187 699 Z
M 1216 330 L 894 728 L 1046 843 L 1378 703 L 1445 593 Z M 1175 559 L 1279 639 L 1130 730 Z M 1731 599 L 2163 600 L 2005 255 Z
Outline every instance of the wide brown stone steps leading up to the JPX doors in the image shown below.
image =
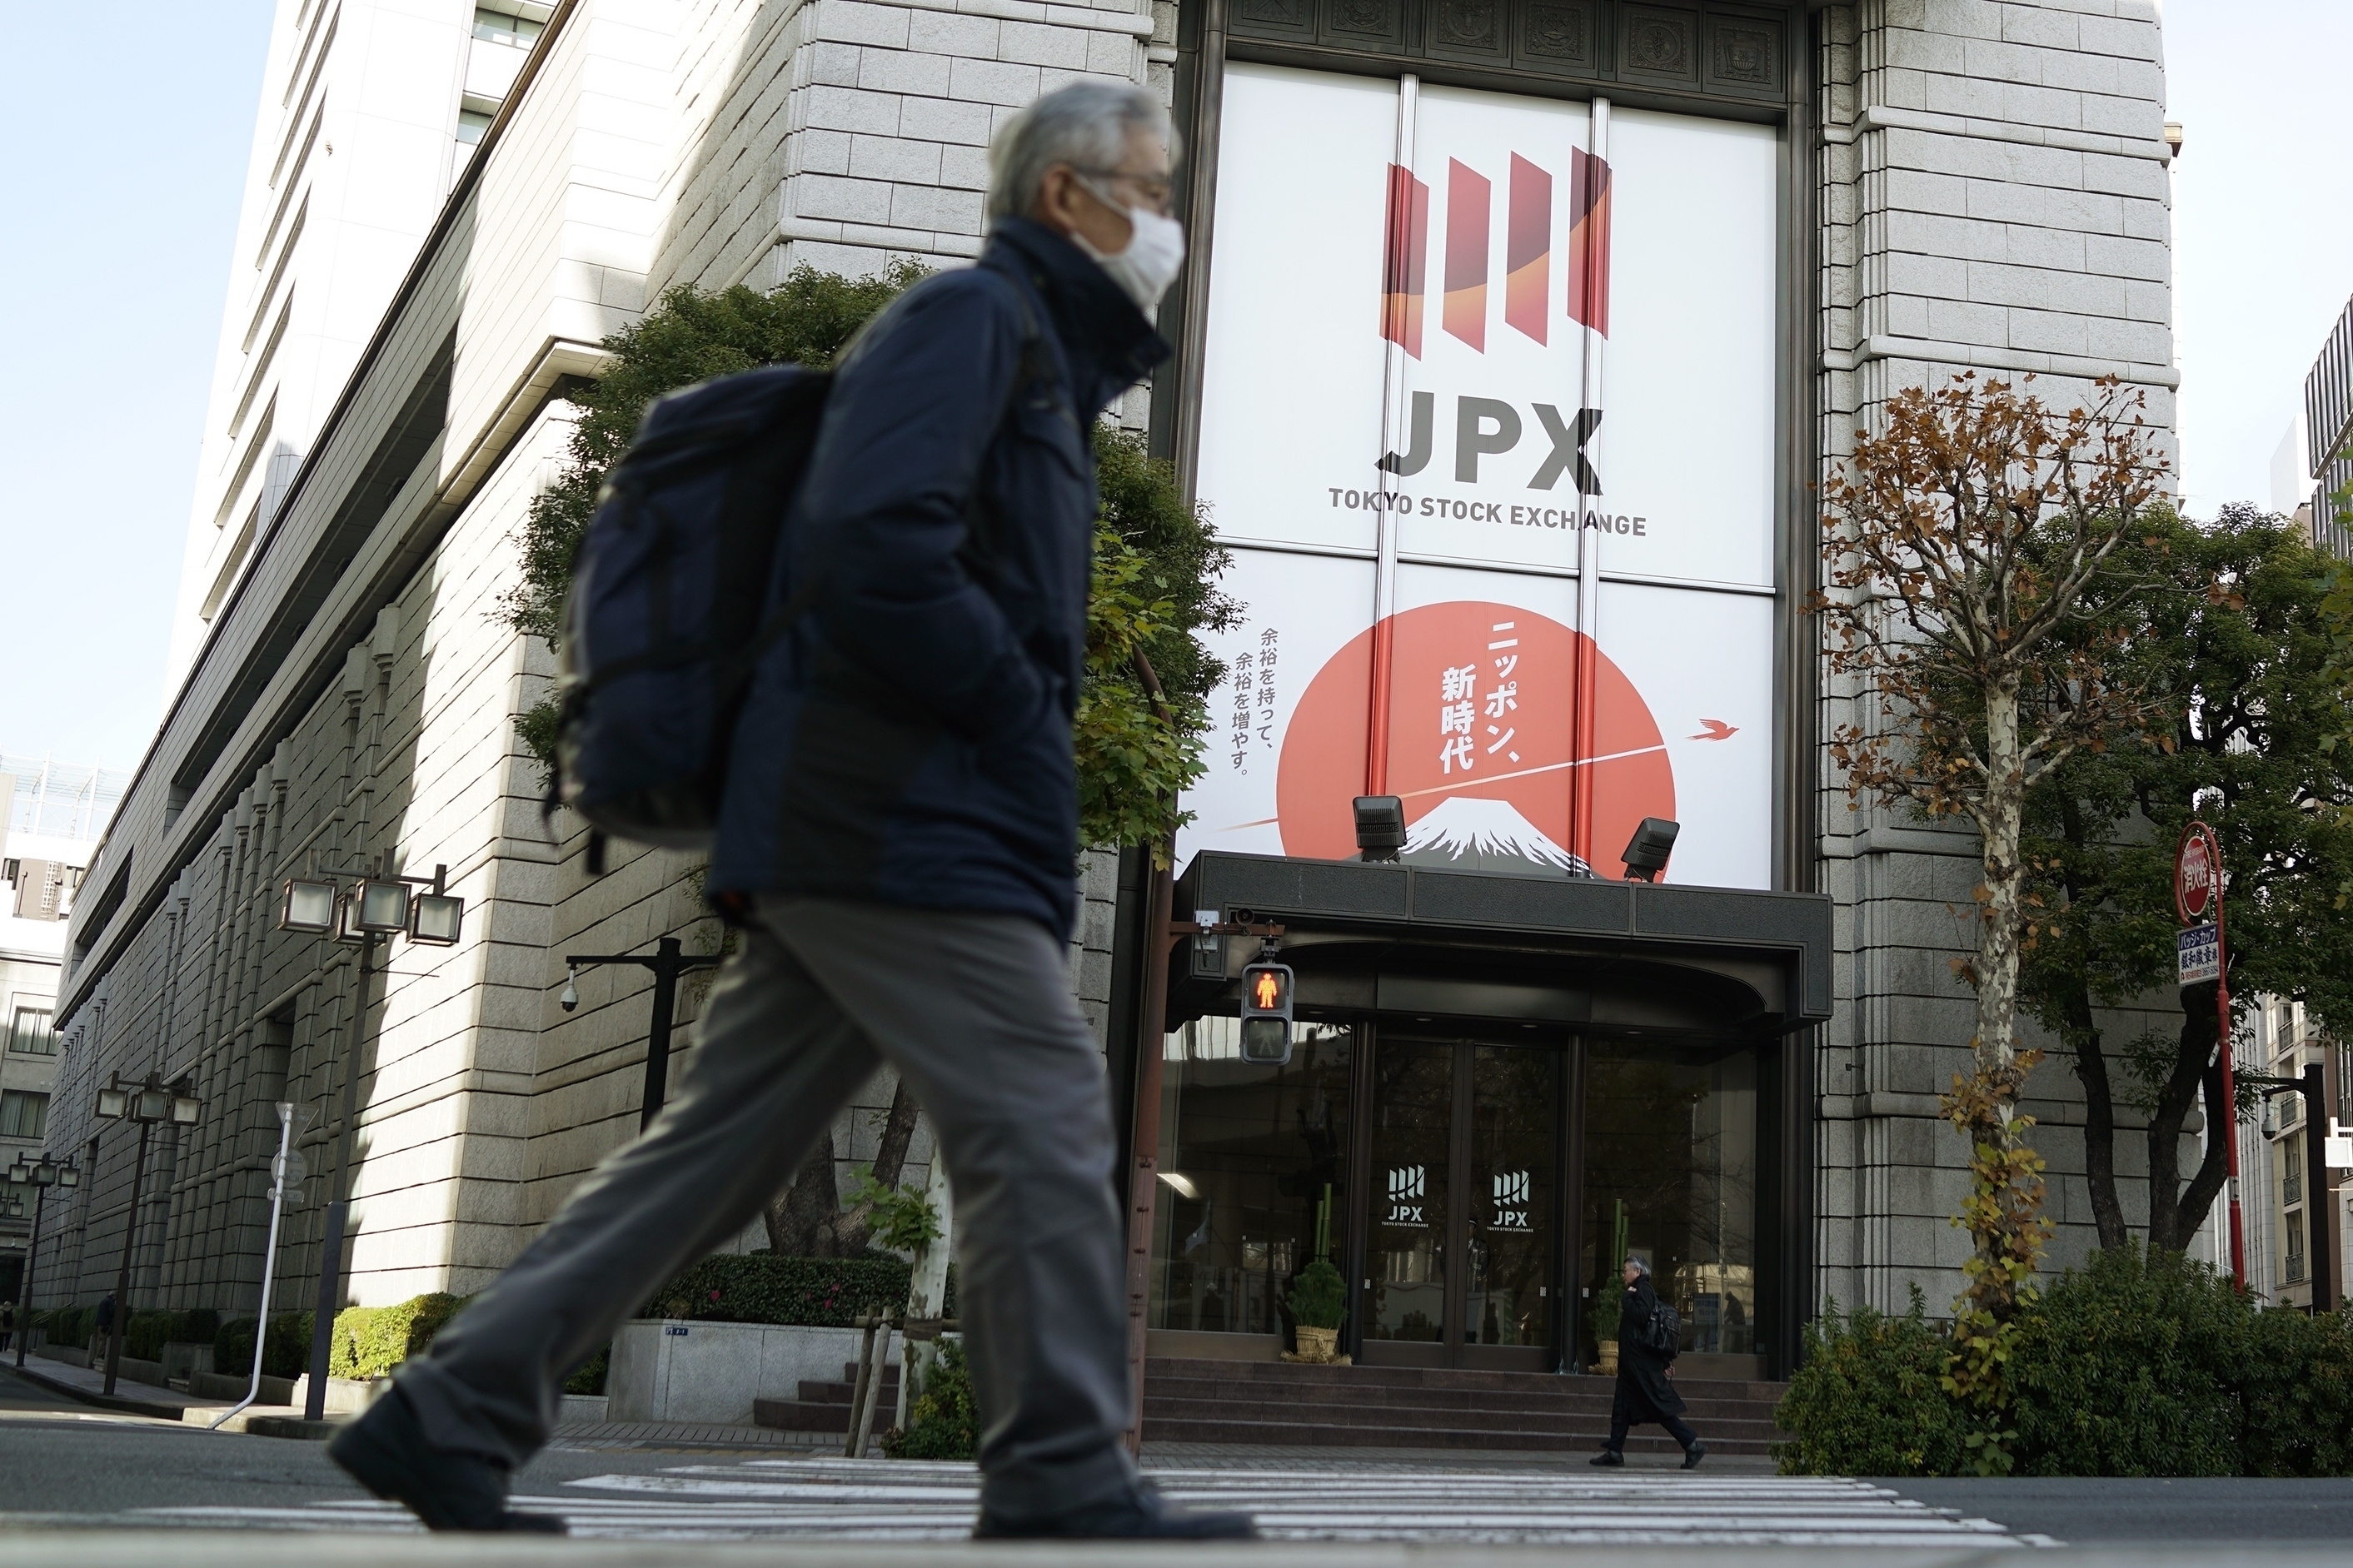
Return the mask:
M 1675 1378 L 1675 1387 L 1713 1453 L 1767 1455 L 1788 1441 L 1772 1425 L 1786 1382 Z M 1609 1436 L 1612 1389 L 1593 1375 L 1153 1356 L 1144 1441 L 1593 1453 Z M 1675 1443 L 1635 1427 L 1626 1450 L 1675 1453 Z

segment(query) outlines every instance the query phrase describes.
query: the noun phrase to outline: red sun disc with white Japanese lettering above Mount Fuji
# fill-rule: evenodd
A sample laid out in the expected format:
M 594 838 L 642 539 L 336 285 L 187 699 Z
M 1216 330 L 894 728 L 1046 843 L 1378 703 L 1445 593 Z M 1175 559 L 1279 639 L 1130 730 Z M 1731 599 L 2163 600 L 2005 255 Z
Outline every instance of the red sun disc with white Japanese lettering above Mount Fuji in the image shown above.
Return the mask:
M 1581 632 L 1515 604 L 1452 599 L 1388 621 L 1388 795 L 1405 799 L 1407 835 L 1449 806 L 1482 825 L 1508 823 L 1501 802 L 1558 849 L 1617 875 L 1617 853 L 1645 816 L 1675 816 L 1675 771 L 1642 693 Z M 1374 628 L 1325 661 L 1282 736 L 1275 780 L 1282 853 L 1355 853 L 1353 797 L 1365 792 Z M 1574 661 L 1595 663 L 1593 759 L 1572 764 Z M 1468 710 L 1464 708 L 1468 703 Z M 1593 780 L 1593 842 L 1574 844 L 1569 778 Z

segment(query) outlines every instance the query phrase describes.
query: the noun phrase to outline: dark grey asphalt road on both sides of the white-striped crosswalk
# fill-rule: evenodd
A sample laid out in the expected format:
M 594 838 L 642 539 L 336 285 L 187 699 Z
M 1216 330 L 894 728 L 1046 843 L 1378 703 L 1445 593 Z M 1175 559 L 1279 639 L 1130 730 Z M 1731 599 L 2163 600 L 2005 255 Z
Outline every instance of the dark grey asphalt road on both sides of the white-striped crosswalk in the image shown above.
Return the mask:
M 551 1448 L 518 1493 L 551 1493 L 586 1476 L 661 1476 L 760 1455 L 729 1450 Z M 769 1455 L 774 1458 L 774 1455 Z M 1261 1460 L 1264 1462 L 1264 1460 Z M 1315 1455 L 1346 1467 L 1346 1450 Z M 1428 1455 L 1431 1469 L 1529 1474 L 1551 1465 Z M 1369 1476 L 1367 1476 L 1369 1479 Z M 2012 1535 L 2068 1544 L 2306 1542 L 2353 1554 L 2353 1481 L 1885 1481 L 1932 1509 L 1988 1519 Z M 212 1434 L 92 1410 L 0 1375 L 0 1530 L 127 1523 L 132 1509 L 308 1509 L 365 1502 L 325 1446 Z

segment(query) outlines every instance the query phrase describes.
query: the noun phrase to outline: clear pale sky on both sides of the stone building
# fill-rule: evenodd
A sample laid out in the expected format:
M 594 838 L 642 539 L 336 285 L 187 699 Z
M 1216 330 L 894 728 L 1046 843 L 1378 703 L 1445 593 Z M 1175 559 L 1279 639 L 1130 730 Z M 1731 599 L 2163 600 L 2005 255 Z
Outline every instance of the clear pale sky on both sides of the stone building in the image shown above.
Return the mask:
M 0 750 L 132 766 L 162 661 L 252 139 L 266 0 L 0 0 Z M 2167 0 L 2191 510 L 2271 454 L 2353 294 L 2346 0 Z

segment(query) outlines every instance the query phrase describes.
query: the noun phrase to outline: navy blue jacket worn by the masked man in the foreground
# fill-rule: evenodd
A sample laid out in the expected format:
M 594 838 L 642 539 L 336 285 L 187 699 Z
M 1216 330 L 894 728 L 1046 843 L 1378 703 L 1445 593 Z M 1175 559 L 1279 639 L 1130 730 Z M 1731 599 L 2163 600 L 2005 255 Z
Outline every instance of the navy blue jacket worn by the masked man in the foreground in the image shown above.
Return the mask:
M 1026 914 L 1068 940 L 1094 418 L 1167 355 L 1061 235 L 1005 219 L 835 367 L 736 726 L 711 893 Z

